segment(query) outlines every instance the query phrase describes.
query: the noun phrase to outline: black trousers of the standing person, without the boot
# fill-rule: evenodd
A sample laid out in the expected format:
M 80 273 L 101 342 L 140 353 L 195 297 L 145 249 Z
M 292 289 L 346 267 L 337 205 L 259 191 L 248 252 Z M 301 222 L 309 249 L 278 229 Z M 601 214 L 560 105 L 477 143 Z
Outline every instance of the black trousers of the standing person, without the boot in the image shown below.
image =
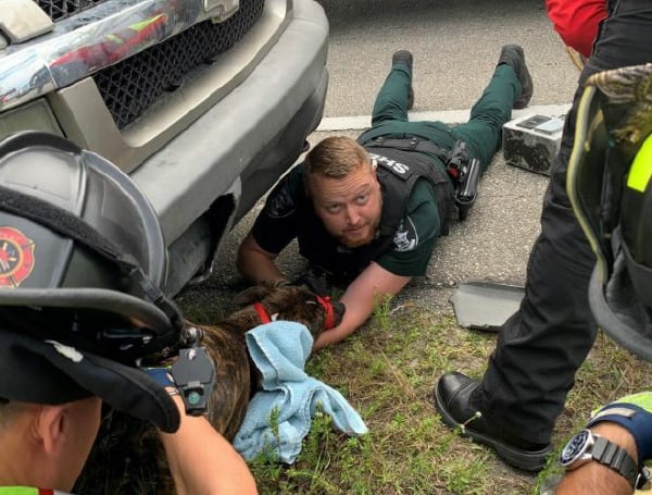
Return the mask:
M 566 194 L 566 169 L 582 84 L 599 71 L 652 61 L 652 2 L 620 0 L 603 21 L 566 115 L 543 199 L 541 234 L 530 252 L 521 309 L 501 329 L 481 387 L 472 398 L 492 424 L 548 443 L 595 339 L 587 288 L 595 263 Z

